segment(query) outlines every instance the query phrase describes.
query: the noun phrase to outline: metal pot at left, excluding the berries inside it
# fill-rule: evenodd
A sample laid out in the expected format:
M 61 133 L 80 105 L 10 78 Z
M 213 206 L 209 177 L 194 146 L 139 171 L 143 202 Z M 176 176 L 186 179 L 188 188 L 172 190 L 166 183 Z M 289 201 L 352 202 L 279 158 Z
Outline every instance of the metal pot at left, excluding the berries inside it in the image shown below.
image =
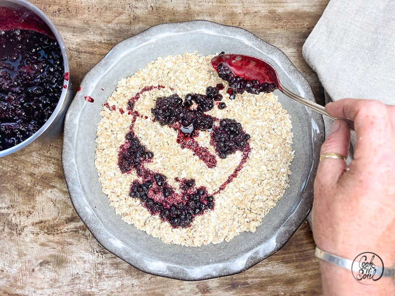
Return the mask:
M 0 19 L 0 30 L 33 29 L 55 37 L 62 51 L 64 72 L 66 74 L 64 88 L 61 91 L 58 104 L 49 119 L 30 138 L 14 147 L 1 150 L 1 157 L 11 153 L 13 153 L 13 156 L 26 154 L 38 150 L 55 140 L 63 131 L 64 117 L 72 100 L 73 91 L 69 74 L 70 58 L 66 52 L 65 44 L 54 24 L 39 8 L 25 0 L 0 0 Z

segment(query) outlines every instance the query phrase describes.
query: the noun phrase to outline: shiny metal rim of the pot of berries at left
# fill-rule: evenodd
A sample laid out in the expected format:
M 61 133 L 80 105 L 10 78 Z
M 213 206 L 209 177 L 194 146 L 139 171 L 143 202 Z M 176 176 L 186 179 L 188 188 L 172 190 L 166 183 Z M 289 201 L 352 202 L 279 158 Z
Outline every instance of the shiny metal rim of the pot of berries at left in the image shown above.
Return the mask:
M 26 1 L 26 0 L 0 0 L 0 7 L 7 7 L 4 5 L 6 3 L 13 3 L 16 6 L 19 6 L 18 8 L 22 8 L 22 7 L 27 8 L 30 11 L 32 11 L 33 13 L 35 13 L 37 16 L 39 16 L 40 19 L 45 22 L 45 24 L 48 26 L 48 28 L 51 30 L 51 32 L 55 36 L 56 41 L 58 42 L 59 47 L 61 49 L 62 56 L 63 56 L 63 67 L 64 67 L 64 74 L 63 75 L 65 75 L 66 73 L 69 73 L 70 72 L 70 64 L 69 64 L 69 59 L 68 59 L 68 54 L 67 54 L 67 49 L 66 49 L 65 43 L 64 43 L 63 38 L 61 37 L 59 31 L 56 29 L 55 25 L 49 19 L 49 17 L 40 8 L 38 8 L 37 6 L 35 6 L 34 4 L 32 4 L 31 2 Z M 12 8 L 17 8 L 17 7 L 13 6 Z M 59 113 L 64 109 L 63 105 L 66 101 L 67 92 L 69 90 L 69 81 L 70 81 L 70 79 L 63 80 L 64 87 L 62 88 L 62 91 L 60 93 L 58 103 L 57 103 L 54 111 L 52 112 L 51 116 L 49 116 L 48 120 L 45 121 L 45 123 L 40 127 L 40 129 L 37 132 L 35 132 L 33 136 L 27 138 L 23 142 L 15 145 L 13 147 L 10 147 L 10 148 L 4 149 L 4 150 L 0 150 L 0 157 L 9 155 L 11 153 L 17 152 L 17 151 L 25 148 L 26 146 L 28 146 L 29 144 L 34 142 L 36 139 L 38 139 L 48 129 L 48 127 L 57 119 Z

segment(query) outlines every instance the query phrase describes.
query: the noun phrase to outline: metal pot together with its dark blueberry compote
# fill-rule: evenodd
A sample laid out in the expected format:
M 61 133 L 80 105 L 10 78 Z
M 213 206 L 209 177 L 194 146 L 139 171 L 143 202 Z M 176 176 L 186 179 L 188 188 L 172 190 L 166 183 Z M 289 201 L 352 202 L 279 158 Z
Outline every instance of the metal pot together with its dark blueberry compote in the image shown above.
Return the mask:
M 0 157 L 25 154 L 63 130 L 69 59 L 51 20 L 25 0 L 0 0 Z

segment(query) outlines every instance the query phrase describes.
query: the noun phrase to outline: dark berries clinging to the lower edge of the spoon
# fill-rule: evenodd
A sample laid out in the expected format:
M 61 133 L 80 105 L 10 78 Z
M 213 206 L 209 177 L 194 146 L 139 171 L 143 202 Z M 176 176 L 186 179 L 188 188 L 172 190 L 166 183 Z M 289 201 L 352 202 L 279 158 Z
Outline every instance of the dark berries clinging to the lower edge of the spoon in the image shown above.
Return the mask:
M 244 91 L 251 94 L 259 94 L 261 92 L 270 93 L 277 89 L 275 83 L 259 83 L 257 80 L 247 80 L 243 77 L 235 75 L 231 68 L 225 64 L 219 64 L 217 69 L 218 76 L 228 81 L 229 86 L 234 93 L 242 94 Z

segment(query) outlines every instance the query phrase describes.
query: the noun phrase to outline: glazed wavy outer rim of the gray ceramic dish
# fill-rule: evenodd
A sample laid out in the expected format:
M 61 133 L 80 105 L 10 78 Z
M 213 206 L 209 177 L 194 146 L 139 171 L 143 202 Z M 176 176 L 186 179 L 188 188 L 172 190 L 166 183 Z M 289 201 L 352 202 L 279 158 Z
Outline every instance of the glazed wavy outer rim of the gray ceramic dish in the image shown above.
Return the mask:
M 199 29 L 191 30 L 191 27 L 198 27 Z M 81 84 L 80 84 L 81 87 L 85 86 L 87 84 L 86 81 L 90 81 L 92 78 L 96 78 L 95 80 L 99 80 L 99 78 L 97 78 L 97 76 L 98 76 L 97 73 L 99 73 L 97 71 L 97 69 L 106 67 L 106 65 L 108 65 L 108 64 L 110 64 L 110 65 L 113 64 L 114 60 L 117 60 L 117 55 L 119 54 L 119 52 L 122 53 L 122 51 L 123 51 L 122 46 L 124 44 L 129 44 L 130 42 L 131 43 L 138 43 L 139 38 L 144 39 L 144 37 L 149 37 L 149 36 L 157 36 L 158 37 L 158 35 L 156 35 L 156 33 L 158 31 L 161 31 L 162 29 L 166 29 L 166 28 L 171 29 L 171 30 L 167 30 L 170 32 L 180 31 L 180 34 L 182 32 L 186 32 L 185 31 L 186 29 L 190 29 L 187 32 L 191 32 L 191 33 L 193 33 L 193 32 L 207 33 L 207 32 L 213 32 L 213 28 L 215 28 L 215 30 L 217 30 L 217 31 L 222 31 L 222 32 L 228 33 L 228 35 L 224 34 L 224 36 L 226 36 L 226 37 L 229 37 L 230 31 L 237 31 L 237 33 L 238 33 L 237 36 L 239 36 L 239 37 L 243 36 L 242 41 L 244 41 L 248 45 L 255 44 L 255 47 L 254 47 L 255 49 L 262 51 L 262 49 L 259 48 L 259 45 L 261 45 L 261 47 L 264 47 L 263 45 L 265 45 L 266 47 L 269 47 L 272 50 L 274 50 L 276 52 L 276 54 L 279 56 L 278 59 L 281 60 L 280 64 L 283 65 L 284 68 L 292 69 L 292 72 L 293 72 L 292 77 L 294 77 L 296 75 L 299 82 L 303 81 L 304 85 L 301 86 L 301 89 L 298 88 L 298 90 L 302 93 L 302 95 L 304 94 L 305 97 L 314 101 L 313 92 L 310 88 L 310 85 L 309 85 L 309 82 L 307 81 L 307 79 L 303 76 L 303 74 L 301 74 L 295 68 L 295 66 L 292 64 L 292 62 L 289 60 L 289 58 L 276 46 L 260 39 L 259 37 L 255 36 L 254 34 L 252 34 L 251 32 L 249 32 L 245 29 L 242 29 L 239 27 L 234 27 L 234 26 L 218 24 L 218 23 L 215 23 L 212 21 L 205 21 L 205 20 L 158 24 L 158 25 L 155 25 L 153 27 L 150 27 L 150 28 L 144 30 L 143 32 L 141 32 L 133 37 L 129 37 L 127 39 L 120 41 L 103 57 L 103 59 L 101 59 L 95 66 L 92 67 L 91 70 L 89 70 L 86 73 L 83 80 L 81 81 Z M 206 28 L 210 28 L 210 30 L 208 30 Z M 182 31 L 181 29 L 184 29 L 184 30 Z M 162 30 L 162 31 L 165 31 L 165 30 Z M 288 73 L 287 71 L 284 71 L 284 72 Z M 100 77 L 102 77 L 103 75 L 104 75 L 103 73 L 99 74 Z M 92 83 L 90 83 L 90 84 L 92 84 Z M 69 189 L 70 199 L 72 201 L 73 207 L 75 208 L 77 214 L 79 215 L 79 218 L 82 220 L 82 222 L 84 222 L 84 224 L 87 226 L 87 228 L 92 233 L 92 235 L 95 237 L 95 239 L 103 247 L 105 247 L 109 252 L 111 252 L 118 258 L 126 261 L 127 263 L 131 264 L 135 268 L 137 268 L 143 272 L 152 274 L 152 275 L 159 275 L 159 276 L 163 276 L 163 277 L 179 279 L 179 280 L 189 280 L 189 281 L 210 279 L 210 278 L 216 278 L 216 277 L 225 276 L 225 275 L 237 274 L 239 272 L 247 270 L 248 268 L 250 268 L 253 265 L 257 264 L 258 262 L 262 261 L 263 259 L 276 253 L 289 240 L 289 238 L 293 235 L 293 233 L 299 228 L 299 226 L 307 218 L 307 216 L 310 212 L 310 209 L 312 207 L 313 196 L 311 196 L 310 198 L 307 197 L 308 200 L 304 200 L 305 202 L 307 201 L 307 203 L 309 205 L 302 204 L 302 200 L 301 200 L 299 205 L 295 209 L 294 213 L 296 213 L 297 211 L 303 211 L 303 213 L 302 213 L 302 216 L 304 217 L 303 219 L 299 218 L 296 221 L 295 216 L 297 216 L 297 215 L 293 215 L 294 214 L 293 213 L 282 224 L 282 226 L 278 230 L 277 234 L 278 233 L 282 234 L 283 232 L 286 232 L 287 238 L 285 240 L 280 241 L 280 242 L 276 241 L 276 247 L 272 250 L 272 252 L 270 252 L 269 254 L 266 254 L 267 256 L 265 255 L 264 258 L 262 258 L 260 256 L 256 256 L 256 255 L 254 256 L 255 253 L 260 252 L 260 249 L 262 248 L 262 244 L 261 244 L 261 245 L 257 246 L 255 249 L 252 249 L 249 253 L 243 254 L 243 256 L 248 255 L 244 266 L 242 266 L 241 268 L 235 269 L 234 271 L 228 271 L 228 272 L 226 272 L 226 274 L 221 274 L 217 269 L 219 269 L 219 268 L 223 269 L 224 264 L 225 265 L 229 265 L 229 264 L 232 265 L 233 262 L 222 262 L 220 264 L 221 266 L 214 266 L 215 264 L 206 264 L 206 265 L 199 266 L 199 267 L 203 267 L 203 266 L 210 267 L 210 268 L 208 268 L 210 270 L 209 270 L 209 272 L 198 274 L 198 275 L 193 274 L 193 271 L 196 267 L 189 268 L 189 267 L 185 267 L 185 266 L 174 266 L 174 265 L 165 263 L 168 267 L 170 267 L 170 271 L 168 271 L 168 269 L 166 268 L 168 273 L 160 273 L 160 272 L 156 272 L 156 271 L 152 271 L 152 270 L 148 269 L 146 267 L 146 264 L 139 265 L 139 264 L 136 264 L 135 262 L 133 262 L 133 263 L 130 262 L 130 259 L 127 256 L 125 256 L 123 254 L 119 254 L 119 250 L 120 250 L 119 247 L 114 246 L 114 244 L 111 244 L 109 242 L 109 240 L 103 240 L 102 230 L 100 230 L 100 228 L 98 229 L 98 227 L 96 227 L 96 225 L 94 225 L 94 222 L 100 222 L 100 219 L 94 215 L 93 211 L 91 213 L 83 212 L 80 207 L 81 200 L 79 200 L 79 194 L 83 194 L 83 190 L 81 187 L 76 187 L 76 185 L 80 186 L 79 179 L 78 179 L 78 169 L 77 169 L 75 163 L 73 163 L 73 159 L 72 159 L 71 155 L 68 155 L 68 151 L 70 151 L 70 149 L 73 148 L 73 144 L 76 143 L 73 141 L 77 140 L 75 137 L 75 136 L 77 136 L 77 132 L 75 131 L 75 135 L 74 135 L 73 129 L 67 129 L 67 126 L 73 123 L 74 119 L 72 117 L 72 113 L 73 113 L 74 109 L 76 108 L 77 100 L 81 99 L 80 96 L 82 96 L 82 95 L 79 93 L 76 94 L 76 96 L 75 96 L 75 98 L 74 98 L 74 100 L 73 100 L 73 102 L 66 114 L 65 129 L 64 129 L 64 139 L 66 141 L 64 140 L 63 148 L 62 148 L 62 166 L 63 166 L 63 170 L 64 170 L 64 174 L 65 174 L 66 184 Z M 323 139 L 324 139 L 323 119 L 322 119 L 322 116 L 318 113 L 311 113 L 311 115 L 312 115 L 313 119 L 316 121 L 318 127 L 321 129 L 321 130 L 319 130 L 319 133 L 318 133 L 319 134 L 318 140 L 313 142 L 313 146 L 314 146 L 313 151 L 319 151 L 319 149 L 317 150 L 318 145 L 320 146 L 320 144 L 322 144 Z M 72 141 L 67 141 L 67 140 L 72 140 Z M 320 142 L 320 143 L 317 143 L 317 142 Z M 313 155 L 313 157 L 314 157 L 314 160 L 313 160 L 313 167 L 312 167 L 311 172 L 313 173 L 313 175 L 315 175 L 319 155 L 317 155 L 317 153 L 316 153 L 315 155 Z M 310 177 L 312 177 L 312 174 L 310 174 Z M 314 180 L 312 180 L 312 179 L 314 179 L 314 178 L 309 178 L 307 185 L 305 187 L 305 190 L 307 190 L 309 192 L 312 192 L 312 189 L 313 189 L 313 181 Z M 111 207 L 110 205 L 108 205 L 108 206 Z M 301 208 L 299 208 L 300 206 L 301 206 Z M 89 215 L 87 215 L 87 214 L 89 214 Z M 293 226 L 292 229 L 289 228 L 290 225 Z M 108 234 L 111 235 L 111 233 L 108 233 Z M 276 236 L 277 236 L 277 234 L 276 234 Z M 122 246 L 122 248 L 123 247 L 127 247 L 127 246 Z M 129 248 L 129 250 L 136 253 L 134 250 L 131 250 L 130 248 Z M 149 260 L 146 258 L 139 257 L 139 254 L 132 254 L 132 257 L 143 260 L 143 262 L 145 262 L 145 263 L 147 260 Z M 215 270 L 217 270 L 217 271 L 214 272 Z

